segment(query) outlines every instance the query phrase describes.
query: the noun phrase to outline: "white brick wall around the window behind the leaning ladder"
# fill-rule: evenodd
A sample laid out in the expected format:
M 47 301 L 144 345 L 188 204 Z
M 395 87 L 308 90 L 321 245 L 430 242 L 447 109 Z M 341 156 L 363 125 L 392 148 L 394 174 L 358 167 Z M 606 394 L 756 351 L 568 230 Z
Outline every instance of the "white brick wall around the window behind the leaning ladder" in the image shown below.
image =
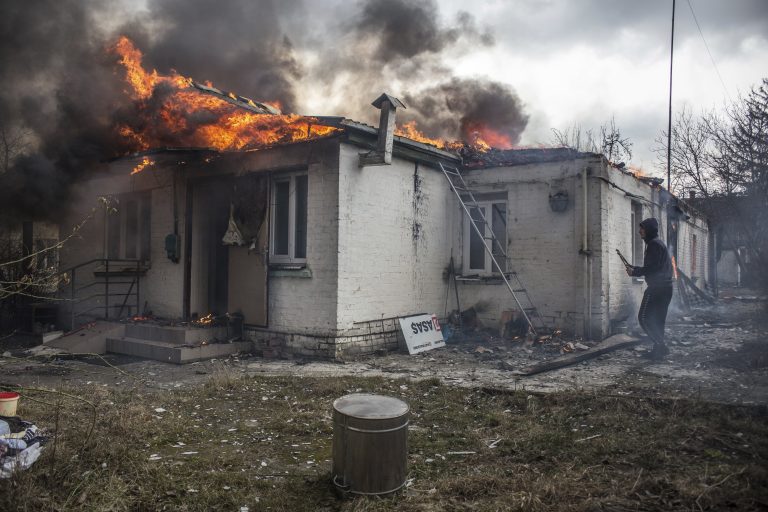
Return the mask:
M 466 178 L 478 200 L 481 194 L 506 194 L 507 269 L 518 272 L 545 322 L 575 332 L 582 330 L 584 317 L 578 176 L 585 165 L 584 161 L 565 161 L 499 167 L 474 171 Z M 568 194 L 568 207 L 554 212 L 549 196 L 560 191 Z M 454 222 L 463 223 L 465 215 L 457 207 L 454 217 Z M 455 247 L 463 247 L 463 236 L 463 229 L 456 230 Z M 456 255 L 465 268 L 460 249 Z M 502 311 L 518 308 L 506 286 L 493 282 L 460 284 L 460 300 L 462 309 L 476 308 L 484 325 L 499 327 Z

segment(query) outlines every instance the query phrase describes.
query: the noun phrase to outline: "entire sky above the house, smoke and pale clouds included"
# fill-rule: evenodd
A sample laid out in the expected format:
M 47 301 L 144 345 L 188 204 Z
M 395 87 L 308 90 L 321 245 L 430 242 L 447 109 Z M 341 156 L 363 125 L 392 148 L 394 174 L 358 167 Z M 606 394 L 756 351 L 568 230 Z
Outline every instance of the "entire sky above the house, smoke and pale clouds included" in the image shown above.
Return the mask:
M 0 127 L 38 141 L 24 186 L 121 154 L 107 129 L 132 108 L 108 51 L 118 35 L 148 68 L 285 112 L 377 124 L 371 102 L 387 92 L 407 106 L 398 120 L 432 137 L 469 140 L 485 123 L 515 147 L 553 145 L 552 129 L 613 118 L 630 163 L 664 173 L 653 148 L 672 0 L 0 0 L 0 12 Z M 678 0 L 675 20 L 674 112 L 723 109 L 768 77 L 768 0 Z

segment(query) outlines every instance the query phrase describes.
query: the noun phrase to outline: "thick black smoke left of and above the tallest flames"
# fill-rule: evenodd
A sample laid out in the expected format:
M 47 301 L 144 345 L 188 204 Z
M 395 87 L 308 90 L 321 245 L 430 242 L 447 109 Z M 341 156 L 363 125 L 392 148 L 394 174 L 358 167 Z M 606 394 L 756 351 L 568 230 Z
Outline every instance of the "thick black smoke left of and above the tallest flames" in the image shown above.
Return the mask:
M 114 129 L 136 112 L 108 51 L 121 34 L 146 68 L 295 105 L 301 67 L 280 18 L 303 16 L 297 1 L 154 0 L 137 11 L 122 0 L 0 0 L 0 12 L 0 145 L 18 141 L 10 150 L 22 153 L 0 169 L 5 215 L 54 218 L 75 180 L 131 149 Z

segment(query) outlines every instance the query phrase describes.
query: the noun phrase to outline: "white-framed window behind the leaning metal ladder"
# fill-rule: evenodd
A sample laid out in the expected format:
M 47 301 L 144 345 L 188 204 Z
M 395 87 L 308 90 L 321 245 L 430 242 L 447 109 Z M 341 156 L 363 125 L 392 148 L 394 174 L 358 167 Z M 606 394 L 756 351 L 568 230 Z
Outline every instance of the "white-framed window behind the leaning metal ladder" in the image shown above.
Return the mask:
M 478 202 L 477 208 L 470 208 L 469 213 L 475 221 L 482 237 L 472 227 L 469 219 L 464 219 L 464 267 L 465 273 L 490 274 L 498 272 L 491 256 L 485 250 L 483 242 L 492 244 L 491 233 L 498 243 L 493 244 L 493 256 L 506 272 L 507 259 L 504 256 L 507 247 L 507 203 Z M 485 218 L 488 224 L 483 222 Z

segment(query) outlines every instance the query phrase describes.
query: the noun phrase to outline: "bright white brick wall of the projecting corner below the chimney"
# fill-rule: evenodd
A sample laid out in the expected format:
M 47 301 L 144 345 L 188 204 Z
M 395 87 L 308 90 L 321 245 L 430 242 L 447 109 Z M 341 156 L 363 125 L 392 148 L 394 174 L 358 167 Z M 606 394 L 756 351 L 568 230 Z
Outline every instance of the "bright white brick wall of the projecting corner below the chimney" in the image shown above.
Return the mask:
M 336 146 L 310 166 L 310 278 L 270 278 L 270 325 L 248 329 L 257 347 L 344 357 L 398 347 L 392 317 L 442 313 L 451 201 L 435 169 L 395 158 L 359 167 L 361 149 Z

